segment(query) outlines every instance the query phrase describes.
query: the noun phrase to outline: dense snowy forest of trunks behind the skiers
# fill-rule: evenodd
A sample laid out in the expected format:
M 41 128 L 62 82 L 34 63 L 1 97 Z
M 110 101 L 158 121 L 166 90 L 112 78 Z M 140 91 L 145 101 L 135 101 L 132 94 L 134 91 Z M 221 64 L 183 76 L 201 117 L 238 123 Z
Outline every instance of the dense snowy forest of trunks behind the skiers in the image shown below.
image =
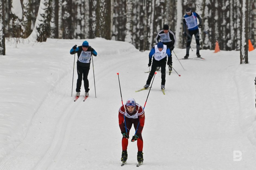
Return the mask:
M 187 7 L 202 18 L 202 49 L 212 50 L 218 41 L 220 50 L 240 50 L 242 25 L 246 38 L 252 44 L 256 40 L 256 0 L 1 0 L 0 5 L 0 34 L 17 43 L 29 36 L 39 42 L 102 37 L 144 51 L 168 24 L 177 38 L 175 47 L 185 48 L 182 20 Z

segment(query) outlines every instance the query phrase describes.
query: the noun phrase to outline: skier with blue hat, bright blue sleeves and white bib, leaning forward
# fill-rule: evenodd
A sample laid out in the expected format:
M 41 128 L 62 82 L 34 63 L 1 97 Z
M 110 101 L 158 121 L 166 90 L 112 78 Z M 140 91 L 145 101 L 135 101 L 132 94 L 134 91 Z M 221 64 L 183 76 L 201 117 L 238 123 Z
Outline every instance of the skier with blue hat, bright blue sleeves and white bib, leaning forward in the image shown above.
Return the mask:
M 151 66 L 151 62 L 152 62 L 152 56 L 153 56 L 153 63 L 152 63 L 152 67 L 146 82 L 146 85 L 144 86 L 145 89 L 147 89 L 150 85 L 150 82 L 156 72 L 156 68 L 157 67 L 161 67 L 161 89 L 164 90 L 165 89 L 165 65 L 166 65 L 166 54 L 168 56 L 168 61 L 167 61 L 167 65 L 171 64 L 171 52 L 170 49 L 167 48 L 166 45 L 164 45 L 162 42 L 157 43 L 157 45 L 155 45 L 150 53 L 149 53 L 149 62 L 148 62 L 148 66 Z

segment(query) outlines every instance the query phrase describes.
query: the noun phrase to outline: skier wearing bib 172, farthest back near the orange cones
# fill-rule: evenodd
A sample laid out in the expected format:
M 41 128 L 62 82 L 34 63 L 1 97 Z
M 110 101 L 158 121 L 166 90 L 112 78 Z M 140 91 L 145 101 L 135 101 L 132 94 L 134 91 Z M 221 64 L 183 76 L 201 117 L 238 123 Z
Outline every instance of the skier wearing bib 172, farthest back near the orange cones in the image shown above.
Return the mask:
M 199 43 L 199 29 L 202 27 L 202 20 L 200 16 L 196 12 L 191 12 L 191 8 L 186 8 L 186 15 L 184 15 L 183 18 L 183 28 L 184 28 L 184 36 L 187 36 L 187 52 L 186 55 L 184 56 L 184 59 L 187 59 L 189 56 L 189 49 L 190 49 L 190 44 L 192 40 L 192 36 L 194 34 L 196 38 L 196 56 L 201 57 L 199 54 L 199 49 L 200 49 L 200 43 Z M 199 20 L 199 25 L 197 25 L 197 20 Z M 188 28 L 188 34 L 186 32 L 186 27 Z

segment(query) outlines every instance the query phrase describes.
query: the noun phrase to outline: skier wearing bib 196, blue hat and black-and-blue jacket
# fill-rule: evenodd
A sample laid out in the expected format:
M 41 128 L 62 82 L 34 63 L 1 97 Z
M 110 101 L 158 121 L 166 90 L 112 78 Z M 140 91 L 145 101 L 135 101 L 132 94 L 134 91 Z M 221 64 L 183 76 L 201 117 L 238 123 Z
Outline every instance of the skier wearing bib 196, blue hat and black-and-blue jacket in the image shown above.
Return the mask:
M 90 61 L 92 55 L 97 56 L 97 52 L 89 46 L 87 41 L 84 41 L 81 46 L 74 46 L 70 50 L 70 54 L 77 53 L 77 88 L 76 96 L 80 96 L 80 89 L 82 85 L 82 79 L 84 80 L 85 96 L 89 96 L 89 81 L 87 79 L 90 70 Z

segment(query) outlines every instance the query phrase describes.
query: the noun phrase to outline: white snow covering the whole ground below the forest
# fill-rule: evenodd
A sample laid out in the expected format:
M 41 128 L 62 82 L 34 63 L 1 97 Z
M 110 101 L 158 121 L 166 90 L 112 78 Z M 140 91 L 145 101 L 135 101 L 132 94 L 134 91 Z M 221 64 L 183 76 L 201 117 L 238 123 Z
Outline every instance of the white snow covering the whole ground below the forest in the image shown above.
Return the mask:
M 148 90 L 135 90 L 146 83 L 149 51 L 139 52 L 122 41 L 87 39 L 98 53 L 93 57 L 96 98 L 91 65 L 90 96 L 74 102 L 77 73 L 71 97 L 74 55 L 69 50 L 83 41 L 47 39 L 17 48 L 5 41 L 7 55 L 0 57 L 0 169 L 121 168 L 117 73 L 123 101 L 132 97 L 144 106 Z M 185 49 L 174 51 L 178 58 L 185 54 Z M 161 74 L 156 74 L 145 106 L 140 169 L 255 168 L 255 53 L 249 52 L 249 64 L 242 65 L 239 51 L 200 50 L 206 60 L 177 60 L 173 55 L 173 68 L 181 76 L 175 71 L 166 75 L 163 95 Z M 134 133 L 132 129 L 130 136 Z M 239 151 L 242 159 L 234 161 Z M 123 169 L 135 168 L 136 154 L 136 142 L 129 141 Z

